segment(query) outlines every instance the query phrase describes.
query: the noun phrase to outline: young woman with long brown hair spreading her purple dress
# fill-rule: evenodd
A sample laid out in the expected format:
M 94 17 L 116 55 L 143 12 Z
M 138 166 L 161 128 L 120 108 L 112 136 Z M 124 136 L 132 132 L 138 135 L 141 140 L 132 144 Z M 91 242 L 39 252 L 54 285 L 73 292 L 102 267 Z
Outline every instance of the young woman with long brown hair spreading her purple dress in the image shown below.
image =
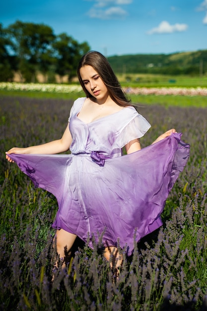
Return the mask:
M 84 241 L 89 236 L 93 247 L 92 236 L 97 241 L 102 235 L 104 255 L 109 260 L 113 253 L 118 267 L 118 243 L 130 255 L 135 239 L 162 225 L 160 214 L 186 165 L 189 145 L 171 129 L 141 150 L 139 138 L 150 125 L 128 101 L 102 54 L 83 56 L 77 74 L 86 97 L 74 102 L 62 138 L 12 148 L 6 158 L 56 196 L 53 228 L 61 258 L 68 257 L 76 236 Z M 55 155 L 69 149 L 70 155 Z

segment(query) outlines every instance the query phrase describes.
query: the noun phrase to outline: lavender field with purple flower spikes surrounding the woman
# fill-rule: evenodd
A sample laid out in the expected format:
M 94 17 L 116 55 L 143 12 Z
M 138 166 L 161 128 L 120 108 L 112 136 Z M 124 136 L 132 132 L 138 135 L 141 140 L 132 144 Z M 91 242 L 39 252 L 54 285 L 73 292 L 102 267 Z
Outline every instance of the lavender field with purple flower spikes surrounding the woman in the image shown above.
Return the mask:
M 69 267 L 60 264 L 52 282 L 56 199 L 34 188 L 5 151 L 59 139 L 71 105 L 0 96 L 0 311 L 207 310 L 207 108 L 139 104 L 151 124 L 142 148 L 172 127 L 191 145 L 163 227 L 135 244 L 131 257 L 123 250 L 119 280 L 101 244 L 92 251 L 77 240 Z

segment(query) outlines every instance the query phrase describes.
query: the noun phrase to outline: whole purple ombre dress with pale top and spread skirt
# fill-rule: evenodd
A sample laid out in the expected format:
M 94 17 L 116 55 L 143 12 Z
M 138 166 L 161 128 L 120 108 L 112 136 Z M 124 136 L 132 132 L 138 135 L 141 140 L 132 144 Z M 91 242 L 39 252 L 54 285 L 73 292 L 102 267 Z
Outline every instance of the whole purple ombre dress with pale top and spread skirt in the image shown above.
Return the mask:
M 53 227 L 104 246 L 127 245 L 162 225 L 166 198 L 189 157 L 176 133 L 130 155 L 122 148 L 149 129 L 134 107 L 88 124 L 78 118 L 85 98 L 70 111 L 71 155 L 9 155 L 36 187 L 53 193 L 59 209 Z M 93 247 L 92 240 L 89 246 Z

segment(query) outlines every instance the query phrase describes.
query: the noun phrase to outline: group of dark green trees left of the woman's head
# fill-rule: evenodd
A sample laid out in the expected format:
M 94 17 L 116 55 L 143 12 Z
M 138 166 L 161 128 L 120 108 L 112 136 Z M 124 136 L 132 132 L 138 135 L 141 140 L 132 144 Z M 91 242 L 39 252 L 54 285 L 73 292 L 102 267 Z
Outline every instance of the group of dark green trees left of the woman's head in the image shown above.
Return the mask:
M 87 42 L 78 43 L 67 33 L 55 35 L 45 24 L 17 20 L 3 28 L 0 23 L 0 81 L 11 81 L 14 72 L 26 82 L 35 82 L 37 73 L 45 82 L 54 82 L 55 74 L 71 80 L 89 50 Z

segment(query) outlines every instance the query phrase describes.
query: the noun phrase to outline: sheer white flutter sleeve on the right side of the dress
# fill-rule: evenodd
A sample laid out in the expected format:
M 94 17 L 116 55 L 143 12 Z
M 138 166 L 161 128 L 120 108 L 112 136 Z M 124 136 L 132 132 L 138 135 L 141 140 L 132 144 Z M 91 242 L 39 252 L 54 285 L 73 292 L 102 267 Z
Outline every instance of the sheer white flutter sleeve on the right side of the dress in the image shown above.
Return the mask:
M 144 136 L 151 125 L 146 121 L 142 115 L 137 114 L 130 122 L 121 130 L 116 141 L 114 148 L 123 148 L 129 142 L 136 138 Z

